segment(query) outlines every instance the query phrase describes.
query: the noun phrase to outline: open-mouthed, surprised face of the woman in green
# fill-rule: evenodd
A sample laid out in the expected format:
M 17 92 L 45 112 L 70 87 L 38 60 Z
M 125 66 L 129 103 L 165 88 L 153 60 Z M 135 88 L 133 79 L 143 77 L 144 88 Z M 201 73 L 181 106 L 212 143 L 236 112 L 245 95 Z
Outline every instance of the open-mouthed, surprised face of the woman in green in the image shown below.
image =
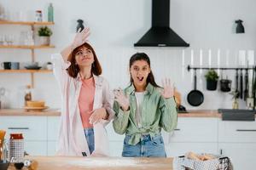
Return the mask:
M 131 78 L 134 86 L 137 88 L 145 88 L 147 85 L 147 77 L 150 73 L 148 62 L 141 59 L 135 61 L 130 68 Z

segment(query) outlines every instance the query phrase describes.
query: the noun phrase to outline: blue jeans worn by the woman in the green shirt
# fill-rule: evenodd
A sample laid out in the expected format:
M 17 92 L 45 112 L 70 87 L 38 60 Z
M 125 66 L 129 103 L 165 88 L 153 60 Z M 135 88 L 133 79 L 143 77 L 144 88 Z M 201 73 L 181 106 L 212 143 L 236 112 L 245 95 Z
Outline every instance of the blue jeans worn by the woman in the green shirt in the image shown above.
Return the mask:
M 165 144 L 162 136 L 156 135 L 153 138 L 149 134 L 142 135 L 136 145 L 128 144 L 130 135 L 125 135 L 122 156 L 125 157 L 166 157 Z

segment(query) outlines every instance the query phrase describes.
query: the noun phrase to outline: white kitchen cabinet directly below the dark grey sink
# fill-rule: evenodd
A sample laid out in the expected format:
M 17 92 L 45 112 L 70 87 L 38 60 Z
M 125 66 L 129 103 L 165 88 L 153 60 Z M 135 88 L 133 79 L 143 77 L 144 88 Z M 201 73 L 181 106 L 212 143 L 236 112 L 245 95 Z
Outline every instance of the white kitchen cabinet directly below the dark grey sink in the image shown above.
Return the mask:
M 219 154 L 229 156 L 236 170 L 256 167 L 256 122 L 218 122 Z

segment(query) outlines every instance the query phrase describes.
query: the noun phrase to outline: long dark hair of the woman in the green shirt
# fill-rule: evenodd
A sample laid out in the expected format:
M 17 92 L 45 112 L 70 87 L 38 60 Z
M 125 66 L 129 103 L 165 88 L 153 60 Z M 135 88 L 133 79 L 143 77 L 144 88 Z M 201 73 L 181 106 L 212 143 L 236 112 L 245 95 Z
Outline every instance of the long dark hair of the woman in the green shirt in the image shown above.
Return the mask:
M 150 59 L 149 59 L 149 57 L 148 57 L 148 55 L 147 54 L 145 54 L 145 53 L 137 53 L 137 54 L 133 54 L 132 56 L 131 56 L 131 59 L 130 59 L 130 62 L 129 62 L 129 67 L 130 67 L 130 69 L 131 69 L 131 65 L 135 62 L 135 61 L 137 61 L 137 60 L 144 60 L 144 61 L 146 61 L 147 63 L 148 63 L 148 65 L 149 65 L 149 68 L 151 68 L 151 66 L 150 66 Z M 131 84 L 132 84 L 132 77 L 130 78 L 130 82 L 131 82 Z M 148 77 L 147 77 L 147 85 L 148 85 L 148 82 L 150 82 L 150 84 L 152 84 L 154 87 L 156 87 L 156 88 L 160 88 L 160 86 L 159 85 L 157 85 L 157 83 L 154 81 L 154 75 L 153 75 L 153 72 L 152 72 L 152 70 L 149 72 L 149 74 L 148 74 Z

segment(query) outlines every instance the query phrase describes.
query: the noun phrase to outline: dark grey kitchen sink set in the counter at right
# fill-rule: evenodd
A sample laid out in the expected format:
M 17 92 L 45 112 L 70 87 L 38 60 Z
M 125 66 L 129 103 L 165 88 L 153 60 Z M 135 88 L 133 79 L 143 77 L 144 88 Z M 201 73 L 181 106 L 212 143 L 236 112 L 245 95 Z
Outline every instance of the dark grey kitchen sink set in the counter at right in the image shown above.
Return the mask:
M 256 111 L 238 109 L 218 109 L 223 121 L 255 121 Z

